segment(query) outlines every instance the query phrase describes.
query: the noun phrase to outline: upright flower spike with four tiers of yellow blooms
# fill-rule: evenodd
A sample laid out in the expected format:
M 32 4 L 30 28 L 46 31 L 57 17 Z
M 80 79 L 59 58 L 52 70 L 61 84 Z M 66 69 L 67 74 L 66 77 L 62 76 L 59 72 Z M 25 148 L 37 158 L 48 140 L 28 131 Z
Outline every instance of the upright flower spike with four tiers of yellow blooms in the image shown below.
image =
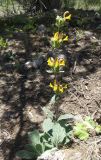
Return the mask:
M 63 16 L 57 15 L 56 17 L 56 27 L 57 31 L 54 33 L 51 38 L 51 46 L 54 49 L 60 48 L 64 42 L 68 42 L 68 35 L 64 34 L 62 27 L 65 25 L 66 21 L 71 20 L 71 14 L 66 11 Z M 61 83 L 58 79 L 58 75 L 61 72 L 64 72 L 64 67 L 66 65 L 66 59 L 64 57 L 58 57 L 58 54 L 55 57 L 49 57 L 47 60 L 48 67 L 50 68 L 50 73 L 54 75 L 53 82 L 50 82 L 49 86 L 54 91 L 56 96 L 60 96 L 67 89 L 67 84 Z

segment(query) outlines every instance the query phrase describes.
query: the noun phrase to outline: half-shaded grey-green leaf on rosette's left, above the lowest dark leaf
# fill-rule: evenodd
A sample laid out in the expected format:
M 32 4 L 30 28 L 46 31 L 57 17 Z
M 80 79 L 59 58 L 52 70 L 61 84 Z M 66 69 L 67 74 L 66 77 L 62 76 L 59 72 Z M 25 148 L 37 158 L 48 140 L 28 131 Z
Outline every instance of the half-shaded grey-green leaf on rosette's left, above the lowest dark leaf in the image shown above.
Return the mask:
M 28 133 L 29 139 L 33 146 L 40 144 L 40 135 L 37 130 Z

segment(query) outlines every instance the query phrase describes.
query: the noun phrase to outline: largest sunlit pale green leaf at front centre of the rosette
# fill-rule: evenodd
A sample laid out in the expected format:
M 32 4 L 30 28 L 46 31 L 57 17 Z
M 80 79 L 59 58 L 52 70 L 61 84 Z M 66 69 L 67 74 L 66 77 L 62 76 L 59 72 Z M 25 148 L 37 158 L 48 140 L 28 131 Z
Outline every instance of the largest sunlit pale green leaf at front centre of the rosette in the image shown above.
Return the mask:
M 66 137 L 66 132 L 59 123 L 55 123 L 53 126 L 52 135 L 52 143 L 54 144 L 54 146 L 58 147 L 58 144 L 62 143 L 64 138 Z

